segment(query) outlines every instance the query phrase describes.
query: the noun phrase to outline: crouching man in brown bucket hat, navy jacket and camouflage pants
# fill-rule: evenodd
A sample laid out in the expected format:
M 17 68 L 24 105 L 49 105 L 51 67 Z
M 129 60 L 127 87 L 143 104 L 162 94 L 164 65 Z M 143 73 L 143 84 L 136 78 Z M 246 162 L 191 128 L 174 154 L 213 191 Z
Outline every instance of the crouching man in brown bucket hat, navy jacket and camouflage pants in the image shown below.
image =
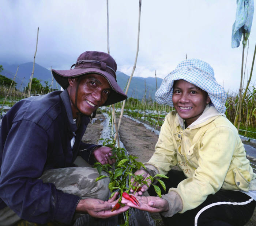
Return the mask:
M 111 212 L 117 195 L 105 201 L 109 179 L 94 182 L 95 168 L 74 164 L 77 156 L 87 165 L 114 161 L 110 148 L 81 139 L 91 113 L 127 98 L 116 81 L 116 62 L 104 52 L 86 51 L 72 67 L 52 70 L 64 91 L 23 99 L 3 117 L 0 225 L 20 219 L 71 224 L 76 213 L 108 218 L 129 208 Z

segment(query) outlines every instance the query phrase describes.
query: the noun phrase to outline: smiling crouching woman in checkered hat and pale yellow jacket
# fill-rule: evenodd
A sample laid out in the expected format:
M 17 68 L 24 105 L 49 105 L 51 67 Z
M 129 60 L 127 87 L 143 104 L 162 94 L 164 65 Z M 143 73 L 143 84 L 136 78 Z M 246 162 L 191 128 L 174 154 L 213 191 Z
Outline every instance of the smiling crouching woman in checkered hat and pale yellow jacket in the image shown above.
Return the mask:
M 155 97 L 175 110 L 165 118 L 147 171 L 136 174 L 168 176 L 162 178 L 166 191 L 159 198 L 153 186 L 143 185 L 139 195 L 148 189 L 151 196 L 138 196 L 139 207 L 122 202 L 161 213 L 165 225 L 244 225 L 256 205 L 256 175 L 224 114 L 226 93 L 212 67 L 198 59 L 182 61 Z

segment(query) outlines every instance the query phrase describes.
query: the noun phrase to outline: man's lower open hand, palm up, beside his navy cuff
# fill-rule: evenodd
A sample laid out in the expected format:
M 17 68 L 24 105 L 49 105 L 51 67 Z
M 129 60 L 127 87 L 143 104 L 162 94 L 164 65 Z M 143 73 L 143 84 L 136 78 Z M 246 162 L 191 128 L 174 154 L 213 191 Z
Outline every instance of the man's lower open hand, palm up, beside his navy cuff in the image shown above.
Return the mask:
M 76 206 L 76 212 L 78 213 L 88 213 L 92 217 L 96 218 L 109 218 L 120 213 L 127 211 L 130 207 L 124 206 L 117 210 L 111 212 L 114 205 L 118 202 L 118 193 L 116 192 L 114 196 L 108 201 L 102 201 L 100 199 L 81 199 Z

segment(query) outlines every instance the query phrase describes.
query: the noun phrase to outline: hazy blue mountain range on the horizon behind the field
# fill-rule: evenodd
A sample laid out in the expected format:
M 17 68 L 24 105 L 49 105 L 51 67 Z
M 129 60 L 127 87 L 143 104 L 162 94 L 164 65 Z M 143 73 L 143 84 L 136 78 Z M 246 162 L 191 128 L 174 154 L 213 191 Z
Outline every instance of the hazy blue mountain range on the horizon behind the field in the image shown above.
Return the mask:
M 33 62 L 23 63 L 20 65 L 10 65 L 8 63 L 0 63 L 0 65 L 3 66 L 3 71 L 0 72 L 1 75 L 4 75 L 7 78 L 13 79 L 17 68 L 19 66 L 15 82 L 17 83 L 16 88 L 19 90 L 23 90 L 24 87 L 27 86 L 29 83 L 30 75 L 32 74 L 33 69 Z M 122 73 L 121 71 L 116 72 L 117 75 L 117 83 L 118 85 L 125 90 L 127 86 L 127 82 L 130 76 Z M 48 82 L 48 86 L 52 83 L 52 73 L 50 70 L 46 69 L 45 67 L 42 67 L 35 63 L 34 67 L 34 75 L 33 78 L 37 78 L 41 81 L 42 86 L 45 86 L 45 81 Z M 157 78 L 157 86 L 159 87 L 162 83 L 162 78 Z M 154 100 L 154 95 L 156 91 L 156 80 L 155 77 L 132 77 L 131 84 L 129 86 L 128 90 L 128 97 L 133 97 L 136 99 L 142 100 L 142 98 L 145 95 L 146 90 L 146 98 L 149 97 Z M 145 87 L 146 83 L 146 87 Z M 55 79 L 53 78 L 53 88 L 54 89 L 60 89 L 60 85 L 57 84 Z

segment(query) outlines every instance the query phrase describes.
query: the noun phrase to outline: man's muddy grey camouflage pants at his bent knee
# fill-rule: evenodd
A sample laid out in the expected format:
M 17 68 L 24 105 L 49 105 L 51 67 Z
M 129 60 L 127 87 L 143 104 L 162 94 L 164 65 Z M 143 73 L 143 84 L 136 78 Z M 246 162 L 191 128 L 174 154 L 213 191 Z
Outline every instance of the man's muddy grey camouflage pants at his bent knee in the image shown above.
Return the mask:
M 81 161 L 82 164 L 86 163 Z M 76 163 L 76 162 L 75 162 Z M 102 175 L 107 175 L 102 172 Z M 39 179 L 44 183 L 53 183 L 57 189 L 65 193 L 86 198 L 107 200 L 109 196 L 109 178 L 103 178 L 94 182 L 99 176 L 98 171 L 92 167 L 60 168 L 45 171 Z M 75 216 L 75 218 L 79 215 Z M 0 226 L 10 226 L 18 222 L 20 218 L 9 207 L 0 210 Z

